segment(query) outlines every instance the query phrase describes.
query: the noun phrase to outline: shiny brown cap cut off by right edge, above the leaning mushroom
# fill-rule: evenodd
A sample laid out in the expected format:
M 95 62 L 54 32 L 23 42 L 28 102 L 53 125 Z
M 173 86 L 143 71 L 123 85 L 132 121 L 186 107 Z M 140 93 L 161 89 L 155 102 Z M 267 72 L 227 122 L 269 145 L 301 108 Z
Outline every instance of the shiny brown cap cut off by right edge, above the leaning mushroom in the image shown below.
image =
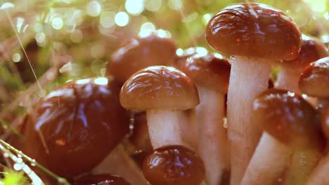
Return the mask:
M 329 57 L 312 62 L 299 78 L 299 90 L 313 97 L 329 97 Z

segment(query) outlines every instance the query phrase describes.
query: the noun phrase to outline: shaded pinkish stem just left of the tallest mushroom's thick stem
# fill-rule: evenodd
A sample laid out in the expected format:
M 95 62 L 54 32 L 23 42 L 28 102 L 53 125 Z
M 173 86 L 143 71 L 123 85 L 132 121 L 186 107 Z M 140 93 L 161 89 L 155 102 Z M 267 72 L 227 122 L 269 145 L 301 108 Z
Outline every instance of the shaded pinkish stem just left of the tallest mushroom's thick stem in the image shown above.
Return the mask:
M 224 128 L 225 95 L 198 85 L 200 104 L 195 107 L 199 131 L 199 153 L 205 163 L 208 185 L 221 183 L 230 168 L 229 144 Z

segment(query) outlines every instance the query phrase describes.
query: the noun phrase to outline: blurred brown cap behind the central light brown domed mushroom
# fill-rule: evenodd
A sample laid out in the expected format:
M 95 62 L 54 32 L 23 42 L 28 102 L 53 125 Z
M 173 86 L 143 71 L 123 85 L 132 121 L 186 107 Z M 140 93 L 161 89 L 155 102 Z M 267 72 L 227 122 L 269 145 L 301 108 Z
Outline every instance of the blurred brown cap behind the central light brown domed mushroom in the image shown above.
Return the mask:
M 176 57 L 176 45 L 172 39 L 150 34 L 143 38 L 131 39 L 112 54 L 108 63 L 108 74 L 120 83 L 140 69 L 155 65 L 171 66 Z

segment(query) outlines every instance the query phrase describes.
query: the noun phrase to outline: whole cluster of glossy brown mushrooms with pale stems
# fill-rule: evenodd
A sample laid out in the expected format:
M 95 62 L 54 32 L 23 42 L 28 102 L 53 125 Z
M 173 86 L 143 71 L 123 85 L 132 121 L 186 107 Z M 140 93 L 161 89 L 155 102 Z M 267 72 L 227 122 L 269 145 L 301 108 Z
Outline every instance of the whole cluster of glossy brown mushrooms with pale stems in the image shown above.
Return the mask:
M 257 3 L 216 13 L 205 39 L 218 53 L 131 39 L 108 78 L 39 100 L 12 144 L 73 184 L 329 184 L 328 48 Z

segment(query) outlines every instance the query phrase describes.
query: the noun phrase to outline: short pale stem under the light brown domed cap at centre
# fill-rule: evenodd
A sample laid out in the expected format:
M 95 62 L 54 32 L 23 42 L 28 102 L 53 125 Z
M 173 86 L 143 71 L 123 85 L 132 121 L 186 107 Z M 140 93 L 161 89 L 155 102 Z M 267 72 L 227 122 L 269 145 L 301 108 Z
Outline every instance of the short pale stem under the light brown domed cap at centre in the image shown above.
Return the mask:
M 180 128 L 181 121 L 186 117 L 183 111 L 170 109 L 149 109 L 146 111 L 148 120 L 148 134 L 153 149 L 161 146 L 180 144 L 192 148 L 183 142 Z

